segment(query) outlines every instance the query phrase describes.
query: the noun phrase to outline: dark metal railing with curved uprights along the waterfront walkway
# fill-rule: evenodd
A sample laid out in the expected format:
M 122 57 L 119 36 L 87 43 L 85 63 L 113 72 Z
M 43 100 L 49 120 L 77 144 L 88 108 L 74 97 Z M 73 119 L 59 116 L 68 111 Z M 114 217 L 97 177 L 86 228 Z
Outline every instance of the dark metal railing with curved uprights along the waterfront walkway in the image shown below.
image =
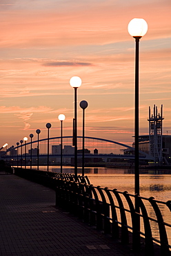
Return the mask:
M 160 255 L 170 255 L 166 228 L 171 228 L 171 225 L 163 221 L 159 205 L 171 210 L 171 201 L 164 203 L 152 197 L 146 199 L 128 192 L 62 179 L 58 179 L 56 184 L 56 204 L 73 212 L 84 222 L 115 239 L 121 239 L 123 244 L 132 244 L 134 251 L 143 249 L 144 255 L 159 255 L 159 250 Z M 135 198 L 139 205 L 138 212 L 134 207 Z M 148 216 L 145 201 L 150 203 L 154 217 Z M 159 231 L 157 238 L 152 235 L 153 224 Z

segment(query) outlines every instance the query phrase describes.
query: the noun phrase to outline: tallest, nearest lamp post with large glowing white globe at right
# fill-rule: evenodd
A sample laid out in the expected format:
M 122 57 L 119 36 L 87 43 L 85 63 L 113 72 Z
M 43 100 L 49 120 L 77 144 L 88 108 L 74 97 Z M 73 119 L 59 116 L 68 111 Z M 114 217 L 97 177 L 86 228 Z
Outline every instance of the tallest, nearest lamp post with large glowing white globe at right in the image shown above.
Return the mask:
M 132 19 L 128 33 L 135 39 L 135 91 L 134 91 L 134 193 L 139 195 L 139 39 L 148 31 L 144 19 Z

